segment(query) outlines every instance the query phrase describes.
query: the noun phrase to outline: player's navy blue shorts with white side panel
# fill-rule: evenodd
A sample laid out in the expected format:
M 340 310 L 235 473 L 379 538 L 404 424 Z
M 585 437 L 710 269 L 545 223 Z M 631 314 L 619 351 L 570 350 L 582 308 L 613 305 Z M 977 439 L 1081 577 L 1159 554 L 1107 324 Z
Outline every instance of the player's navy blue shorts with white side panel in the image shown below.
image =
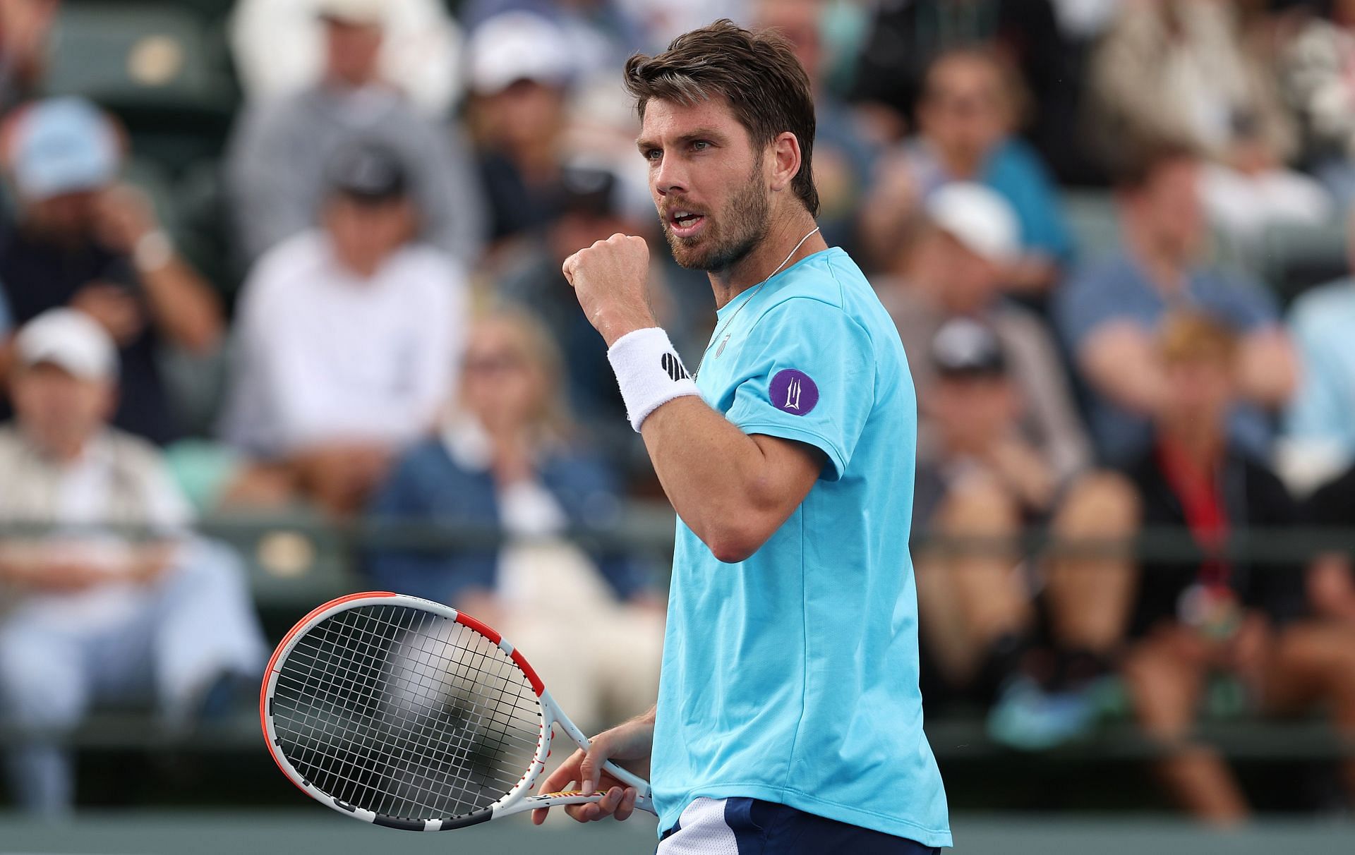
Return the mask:
M 756 798 L 696 798 L 656 855 L 938 855 L 916 840 Z

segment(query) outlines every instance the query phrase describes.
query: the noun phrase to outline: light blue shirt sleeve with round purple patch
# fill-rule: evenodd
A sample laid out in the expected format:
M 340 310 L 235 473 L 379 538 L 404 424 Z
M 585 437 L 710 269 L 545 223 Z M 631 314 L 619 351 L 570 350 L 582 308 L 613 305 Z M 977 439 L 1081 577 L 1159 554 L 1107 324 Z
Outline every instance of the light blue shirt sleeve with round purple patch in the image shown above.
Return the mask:
M 875 402 L 875 348 L 837 306 L 791 298 L 767 310 L 738 351 L 725 416 L 745 434 L 808 443 L 828 455 L 822 477 L 851 463 Z

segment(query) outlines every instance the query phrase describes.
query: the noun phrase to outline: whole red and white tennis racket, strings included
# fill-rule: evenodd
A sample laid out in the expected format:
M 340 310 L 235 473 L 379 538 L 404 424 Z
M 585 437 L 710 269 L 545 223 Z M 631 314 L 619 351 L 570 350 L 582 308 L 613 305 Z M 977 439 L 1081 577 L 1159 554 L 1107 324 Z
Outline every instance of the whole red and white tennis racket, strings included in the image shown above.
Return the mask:
M 268 752 L 301 790 L 366 822 L 447 831 L 603 793 L 531 795 L 558 726 L 522 653 L 470 615 L 367 592 L 320 606 L 282 640 L 259 692 Z M 653 813 L 649 783 L 611 762 Z

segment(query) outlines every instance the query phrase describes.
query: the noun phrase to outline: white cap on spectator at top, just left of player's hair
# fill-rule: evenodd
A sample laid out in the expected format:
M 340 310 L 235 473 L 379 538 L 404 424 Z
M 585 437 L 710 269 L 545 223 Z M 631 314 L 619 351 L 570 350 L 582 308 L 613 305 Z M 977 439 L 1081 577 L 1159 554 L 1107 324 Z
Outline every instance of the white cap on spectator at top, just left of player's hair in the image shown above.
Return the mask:
M 565 34 L 533 12 L 495 15 L 470 37 L 470 87 L 484 95 L 519 80 L 565 85 L 576 70 Z

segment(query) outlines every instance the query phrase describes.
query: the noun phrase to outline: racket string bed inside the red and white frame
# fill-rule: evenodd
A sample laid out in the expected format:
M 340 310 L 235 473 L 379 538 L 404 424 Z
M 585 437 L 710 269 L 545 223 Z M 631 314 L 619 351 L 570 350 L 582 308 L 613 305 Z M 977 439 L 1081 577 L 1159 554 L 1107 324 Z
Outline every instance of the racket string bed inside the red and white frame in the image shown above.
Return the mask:
M 412 820 L 480 810 L 535 757 L 541 707 L 526 675 L 474 630 L 406 606 L 321 622 L 283 660 L 279 748 L 321 791 Z

